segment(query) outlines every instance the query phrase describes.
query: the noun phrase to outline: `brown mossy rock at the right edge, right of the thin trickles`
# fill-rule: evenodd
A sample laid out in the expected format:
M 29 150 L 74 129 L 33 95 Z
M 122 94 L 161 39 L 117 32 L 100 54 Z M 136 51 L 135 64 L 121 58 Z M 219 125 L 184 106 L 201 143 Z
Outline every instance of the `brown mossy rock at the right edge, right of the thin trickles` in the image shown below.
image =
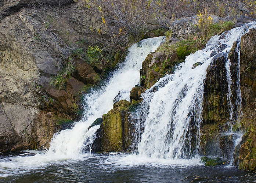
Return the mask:
M 241 39 L 240 75 L 242 112 L 241 126 L 245 134 L 238 150 L 238 167 L 245 170 L 256 170 L 256 29 L 252 29 Z

